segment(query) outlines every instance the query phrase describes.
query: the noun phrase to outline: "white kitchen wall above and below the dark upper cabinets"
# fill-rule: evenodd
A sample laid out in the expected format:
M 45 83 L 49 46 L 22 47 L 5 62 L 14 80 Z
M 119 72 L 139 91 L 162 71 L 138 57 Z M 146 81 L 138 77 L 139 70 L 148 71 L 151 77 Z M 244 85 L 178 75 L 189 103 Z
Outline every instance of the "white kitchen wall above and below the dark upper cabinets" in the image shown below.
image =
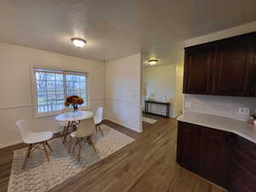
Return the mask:
M 185 41 L 185 46 L 203 44 L 214 40 L 229 38 L 247 32 L 256 31 L 256 21 L 245 25 L 232 27 L 223 31 L 214 32 L 202 37 L 193 38 Z M 238 113 L 239 107 L 256 108 L 255 97 L 238 96 L 204 96 L 204 95 L 185 95 L 184 102 L 192 102 L 192 108 L 184 108 L 185 111 L 195 111 L 199 113 L 210 113 L 214 115 L 229 117 L 233 119 L 247 120 L 248 116 Z

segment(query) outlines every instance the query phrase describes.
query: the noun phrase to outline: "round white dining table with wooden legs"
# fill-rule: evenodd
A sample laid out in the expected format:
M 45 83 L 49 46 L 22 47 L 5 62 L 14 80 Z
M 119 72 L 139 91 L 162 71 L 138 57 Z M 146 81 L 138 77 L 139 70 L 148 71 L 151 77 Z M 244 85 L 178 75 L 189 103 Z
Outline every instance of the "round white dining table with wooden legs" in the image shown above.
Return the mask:
M 76 112 L 69 112 L 69 113 L 61 113 L 55 117 L 56 120 L 60 122 L 68 122 L 67 126 L 64 126 L 62 135 L 63 135 L 63 144 L 66 143 L 67 140 L 67 134 L 69 129 L 73 128 L 73 125 L 75 125 L 75 122 L 83 120 L 83 119 L 89 119 L 93 116 L 93 113 L 91 111 L 76 111 Z

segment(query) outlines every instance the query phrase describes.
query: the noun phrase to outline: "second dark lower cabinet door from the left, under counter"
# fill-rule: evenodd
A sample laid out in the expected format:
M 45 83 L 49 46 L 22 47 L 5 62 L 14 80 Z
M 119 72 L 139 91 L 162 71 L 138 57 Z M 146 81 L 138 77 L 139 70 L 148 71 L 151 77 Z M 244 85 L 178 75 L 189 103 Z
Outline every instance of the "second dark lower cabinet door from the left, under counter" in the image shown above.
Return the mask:
M 200 174 L 224 188 L 229 181 L 230 139 L 228 132 L 202 128 Z

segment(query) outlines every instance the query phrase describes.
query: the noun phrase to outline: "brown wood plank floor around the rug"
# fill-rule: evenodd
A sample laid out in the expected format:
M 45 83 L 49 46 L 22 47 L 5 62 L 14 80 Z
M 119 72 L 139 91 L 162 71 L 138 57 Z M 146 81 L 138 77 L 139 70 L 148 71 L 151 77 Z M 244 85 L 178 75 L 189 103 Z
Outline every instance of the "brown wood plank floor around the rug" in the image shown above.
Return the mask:
M 177 166 L 177 121 L 157 116 L 154 125 L 143 122 L 143 132 L 136 133 L 110 121 L 104 124 L 136 138 L 134 143 L 90 166 L 50 192 L 224 192 Z M 0 192 L 8 189 L 13 151 L 23 146 L 0 150 Z

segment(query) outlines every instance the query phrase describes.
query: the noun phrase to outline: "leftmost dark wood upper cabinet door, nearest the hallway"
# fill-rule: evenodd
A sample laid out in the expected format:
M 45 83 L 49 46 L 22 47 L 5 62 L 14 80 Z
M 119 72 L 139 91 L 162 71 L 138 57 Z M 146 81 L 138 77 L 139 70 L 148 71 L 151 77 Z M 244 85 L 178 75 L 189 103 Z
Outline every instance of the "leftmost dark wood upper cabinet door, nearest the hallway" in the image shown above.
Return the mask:
M 185 49 L 183 93 L 212 93 L 214 52 L 214 44 L 198 45 Z

